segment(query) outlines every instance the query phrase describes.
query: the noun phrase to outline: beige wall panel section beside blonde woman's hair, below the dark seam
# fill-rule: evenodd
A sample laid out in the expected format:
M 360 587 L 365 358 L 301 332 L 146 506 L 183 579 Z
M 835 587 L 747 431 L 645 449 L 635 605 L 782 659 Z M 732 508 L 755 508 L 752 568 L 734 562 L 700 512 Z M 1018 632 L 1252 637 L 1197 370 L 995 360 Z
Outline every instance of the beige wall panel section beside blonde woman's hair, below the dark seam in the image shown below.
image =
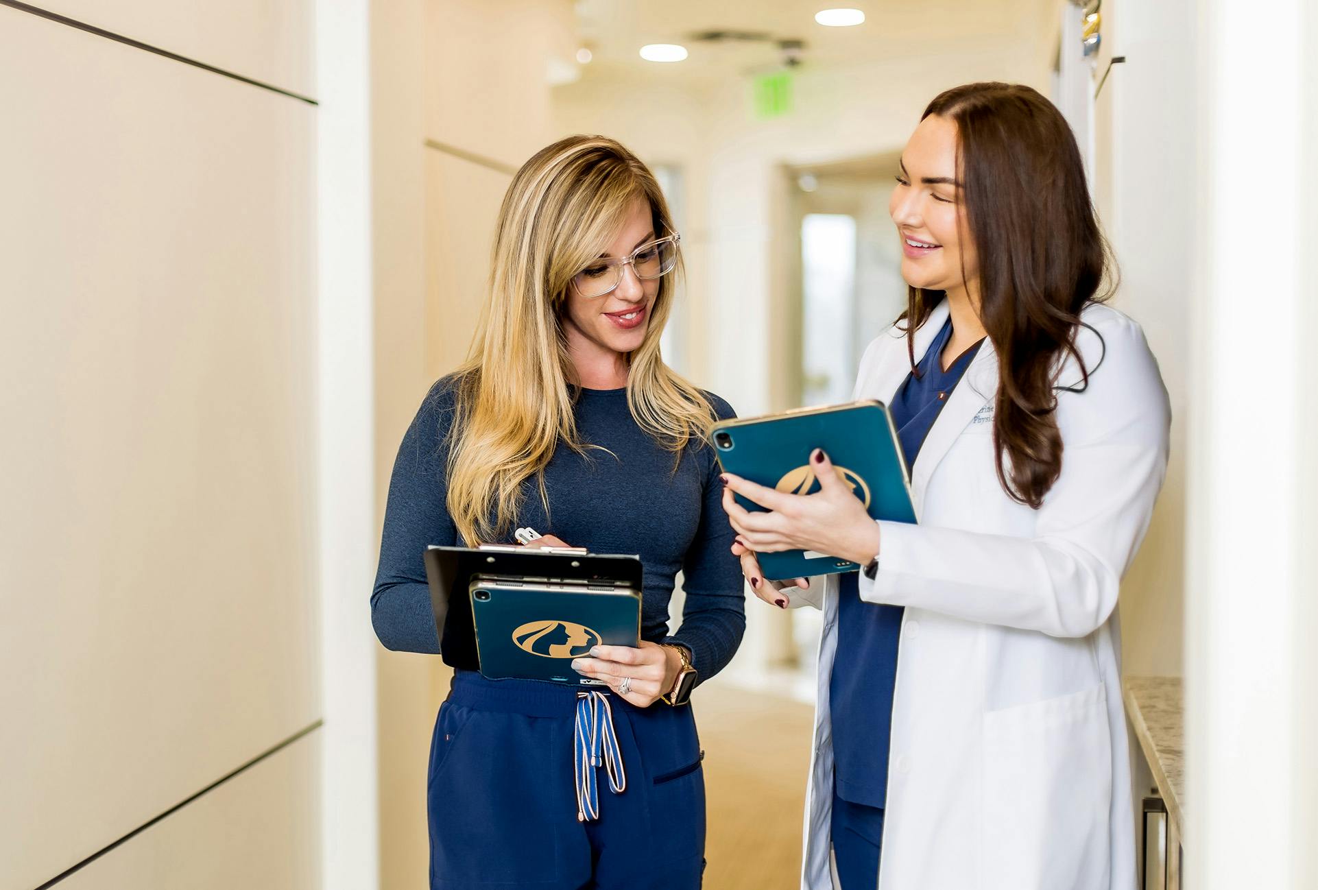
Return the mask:
M 494 223 L 510 177 L 430 149 L 426 158 L 426 378 L 453 371 L 476 331 Z M 419 402 L 418 402 L 419 405 Z

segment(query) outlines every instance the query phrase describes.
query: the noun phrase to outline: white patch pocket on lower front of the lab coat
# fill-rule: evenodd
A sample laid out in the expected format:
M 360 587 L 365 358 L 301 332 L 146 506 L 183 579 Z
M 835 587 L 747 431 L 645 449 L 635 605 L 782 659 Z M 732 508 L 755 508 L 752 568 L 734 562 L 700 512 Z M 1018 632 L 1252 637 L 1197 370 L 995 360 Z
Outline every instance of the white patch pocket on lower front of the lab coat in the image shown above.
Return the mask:
M 1107 887 L 1112 742 L 1095 687 L 983 717 L 983 887 Z

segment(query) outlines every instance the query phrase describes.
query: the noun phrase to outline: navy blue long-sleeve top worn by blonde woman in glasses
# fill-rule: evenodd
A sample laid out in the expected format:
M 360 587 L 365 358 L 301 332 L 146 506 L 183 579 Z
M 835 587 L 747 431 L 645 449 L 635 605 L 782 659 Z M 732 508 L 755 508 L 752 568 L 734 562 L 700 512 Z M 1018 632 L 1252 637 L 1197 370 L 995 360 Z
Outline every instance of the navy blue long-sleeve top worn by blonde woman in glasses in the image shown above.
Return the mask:
M 372 624 L 387 649 L 439 651 L 422 554 L 430 545 L 464 543 L 447 508 L 453 382 L 444 377 L 431 388 L 394 460 L 370 597 Z M 728 402 L 712 393 L 706 398 L 720 419 L 734 417 Z M 673 452 L 633 419 L 625 389 L 583 389 L 575 411 L 581 440 L 608 451 L 583 455 L 559 444 L 544 468 L 548 512 L 529 480 L 514 527 L 531 526 L 590 552 L 638 554 L 642 639 L 683 643 L 700 679 L 713 676 L 746 629 L 742 574 L 730 551 L 713 450 L 693 440 L 675 471 Z M 679 571 L 687 599 L 681 626 L 670 636 L 668 600 Z

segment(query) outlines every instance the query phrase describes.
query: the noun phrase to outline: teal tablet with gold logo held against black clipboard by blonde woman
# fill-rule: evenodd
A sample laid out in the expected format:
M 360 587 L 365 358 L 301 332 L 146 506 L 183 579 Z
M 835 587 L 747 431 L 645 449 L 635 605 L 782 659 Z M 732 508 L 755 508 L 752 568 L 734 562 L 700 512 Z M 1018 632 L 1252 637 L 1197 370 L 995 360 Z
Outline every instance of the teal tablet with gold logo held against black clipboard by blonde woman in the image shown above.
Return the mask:
M 490 679 L 602 686 L 572 670 L 590 646 L 641 642 L 641 591 L 619 584 L 476 576 L 472 622 L 481 674 Z

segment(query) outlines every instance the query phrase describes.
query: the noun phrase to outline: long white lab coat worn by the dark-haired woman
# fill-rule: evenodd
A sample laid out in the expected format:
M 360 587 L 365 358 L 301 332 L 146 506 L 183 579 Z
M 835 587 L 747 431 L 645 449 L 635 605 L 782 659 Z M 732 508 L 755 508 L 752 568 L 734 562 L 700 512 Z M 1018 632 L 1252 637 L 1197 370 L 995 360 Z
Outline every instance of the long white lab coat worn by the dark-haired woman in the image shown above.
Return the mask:
M 915 332 L 924 355 L 944 301 Z M 920 525 L 880 522 L 861 599 L 905 607 L 882 890 L 1128 890 L 1135 825 L 1116 593 L 1166 469 L 1170 410 L 1139 326 L 1104 306 L 1081 330 L 1083 393 L 1058 393 L 1062 471 L 1039 510 L 994 469 L 998 356 L 981 347 L 912 468 Z M 1099 365 L 1099 357 L 1102 364 Z M 902 331 L 870 344 L 855 396 L 891 401 Z M 1077 385 L 1074 361 L 1058 385 Z M 837 576 L 792 591 L 824 609 L 803 890 L 833 887 L 829 676 Z

